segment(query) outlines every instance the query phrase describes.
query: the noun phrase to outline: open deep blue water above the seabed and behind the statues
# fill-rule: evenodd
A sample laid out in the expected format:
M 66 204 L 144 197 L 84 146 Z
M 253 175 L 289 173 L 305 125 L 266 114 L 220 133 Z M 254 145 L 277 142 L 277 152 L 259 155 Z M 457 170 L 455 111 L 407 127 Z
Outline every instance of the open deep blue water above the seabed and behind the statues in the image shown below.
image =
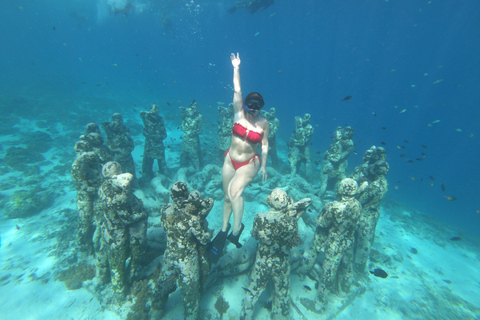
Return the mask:
M 226 12 L 233 1 L 144 3 L 127 16 L 106 1 L 2 3 L 0 90 L 113 97 L 119 112 L 135 101 L 215 105 L 231 101 L 229 55 L 240 52 L 243 91 L 278 109 L 281 138 L 309 112 L 323 152 L 349 124 L 351 168 L 384 142 L 390 197 L 478 230 L 478 1 L 292 0 L 255 14 Z

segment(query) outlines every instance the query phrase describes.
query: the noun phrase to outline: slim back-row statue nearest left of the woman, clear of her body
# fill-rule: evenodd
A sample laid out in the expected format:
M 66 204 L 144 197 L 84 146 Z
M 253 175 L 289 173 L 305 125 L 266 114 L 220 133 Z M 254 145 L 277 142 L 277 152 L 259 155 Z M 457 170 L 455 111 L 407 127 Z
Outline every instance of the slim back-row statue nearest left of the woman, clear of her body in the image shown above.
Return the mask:
M 180 164 L 182 167 L 193 166 L 198 172 L 202 162 L 199 136 L 202 133 L 203 117 L 198 112 L 195 100 L 187 108 L 181 107 L 180 115 L 184 132 Z

